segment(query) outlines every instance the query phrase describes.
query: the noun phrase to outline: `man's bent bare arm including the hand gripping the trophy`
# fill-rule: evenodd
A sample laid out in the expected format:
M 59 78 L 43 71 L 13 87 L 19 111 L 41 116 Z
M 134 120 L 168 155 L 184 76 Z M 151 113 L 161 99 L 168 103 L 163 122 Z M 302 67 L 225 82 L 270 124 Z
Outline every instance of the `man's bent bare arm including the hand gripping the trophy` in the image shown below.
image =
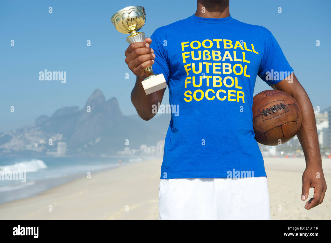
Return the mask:
M 144 120 L 150 120 L 156 113 L 152 113 L 152 105 L 162 102 L 166 89 L 158 90 L 146 95 L 141 82 L 146 78 L 145 68 L 153 65 L 155 54 L 149 48 L 152 39 L 145 38 L 145 42 L 131 43 L 125 51 L 125 62 L 129 69 L 137 76 L 136 84 L 131 92 L 131 101 L 138 115 Z

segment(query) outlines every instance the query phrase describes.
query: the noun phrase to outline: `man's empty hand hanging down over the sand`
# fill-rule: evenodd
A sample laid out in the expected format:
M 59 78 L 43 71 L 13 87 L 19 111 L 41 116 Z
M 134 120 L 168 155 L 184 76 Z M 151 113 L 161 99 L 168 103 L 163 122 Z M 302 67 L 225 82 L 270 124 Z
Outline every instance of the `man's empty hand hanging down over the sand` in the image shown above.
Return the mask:
M 303 201 L 307 200 L 309 187 L 314 188 L 314 195 L 306 203 L 307 210 L 321 204 L 323 202 L 326 182 L 324 179 L 322 166 L 307 165 L 304 174 L 302 175 L 302 197 Z

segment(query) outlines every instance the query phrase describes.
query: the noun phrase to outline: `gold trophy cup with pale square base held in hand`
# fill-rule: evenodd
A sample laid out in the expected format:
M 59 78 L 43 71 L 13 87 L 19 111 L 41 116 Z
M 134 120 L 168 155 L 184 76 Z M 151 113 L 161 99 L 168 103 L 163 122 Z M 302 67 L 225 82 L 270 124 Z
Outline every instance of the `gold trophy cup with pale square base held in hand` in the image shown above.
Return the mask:
M 145 33 L 138 32 L 145 24 L 145 9 L 141 6 L 130 6 L 117 11 L 111 18 L 115 28 L 123 33 L 130 34 L 126 41 L 130 44 L 133 42 L 144 42 Z M 166 88 L 166 80 L 163 74 L 154 74 L 152 67 L 145 69 L 147 77 L 141 82 L 146 95 L 155 91 Z

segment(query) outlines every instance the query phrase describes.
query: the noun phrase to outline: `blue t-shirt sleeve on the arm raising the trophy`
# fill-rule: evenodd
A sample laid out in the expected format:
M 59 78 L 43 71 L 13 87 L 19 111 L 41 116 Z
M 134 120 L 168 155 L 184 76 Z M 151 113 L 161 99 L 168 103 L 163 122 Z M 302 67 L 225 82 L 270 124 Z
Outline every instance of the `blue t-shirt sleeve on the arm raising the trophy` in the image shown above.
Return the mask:
M 168 85 L 170 77 L 170 65 L 167 60 L 166 51 L 161 44 L 163 43 L 162 37 L 158 35 L 158 31 L 156 30 L 150 38 L 152 39 L 150 48 L 154 50 L 155 54 L 154 64 L 152 65 L 153 72 L 156 74 L 163 73 L 166 79 L 166 84 Z

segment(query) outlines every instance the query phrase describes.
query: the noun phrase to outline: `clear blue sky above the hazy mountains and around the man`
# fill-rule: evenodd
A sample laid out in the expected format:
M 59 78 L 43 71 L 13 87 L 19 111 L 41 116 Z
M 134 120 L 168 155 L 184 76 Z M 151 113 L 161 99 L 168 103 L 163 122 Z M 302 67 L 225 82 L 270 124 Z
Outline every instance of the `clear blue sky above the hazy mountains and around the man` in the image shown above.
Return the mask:
M 1 1 L 0 132 L 32 124 L 62 106 L 81 109 L 96 88 L 107 100 L 116 97 L 123 114 L 135 114 L 130 101 L 135 76 L 124 62 L 127 36 L 110 22 L 116 11 L 132 5 L 146 10 L 146 36 L 196 11 L 194 0 Z M 230 0 L 233 18 L 273 33 L 313 105 L 321 109 L 331 105 L 330 5 L 328 0 Z M 44 69 L 66 71 L 67 82 L 40 81 Z M 255 94 L 266 89 L 258 78 Z M 168 103 L 168 91 L 163 103 Z

